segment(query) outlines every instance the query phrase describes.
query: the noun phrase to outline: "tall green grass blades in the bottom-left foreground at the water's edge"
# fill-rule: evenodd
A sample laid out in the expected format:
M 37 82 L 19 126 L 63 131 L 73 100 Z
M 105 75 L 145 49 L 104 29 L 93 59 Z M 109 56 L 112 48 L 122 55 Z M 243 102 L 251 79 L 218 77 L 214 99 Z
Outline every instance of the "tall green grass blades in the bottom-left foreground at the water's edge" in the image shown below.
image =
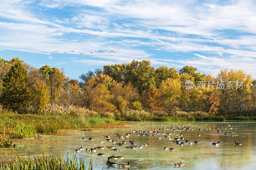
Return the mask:
M 0 164 L 0 170 L 92 170 L 92 160 L 89 166 L 83 158 L 77 159 L 73 156 L 71 159 L 66 156 L 64 159 L 48 158 L 45 156 L 34 157 L 34 159 L 16 159 L 14 162 Z

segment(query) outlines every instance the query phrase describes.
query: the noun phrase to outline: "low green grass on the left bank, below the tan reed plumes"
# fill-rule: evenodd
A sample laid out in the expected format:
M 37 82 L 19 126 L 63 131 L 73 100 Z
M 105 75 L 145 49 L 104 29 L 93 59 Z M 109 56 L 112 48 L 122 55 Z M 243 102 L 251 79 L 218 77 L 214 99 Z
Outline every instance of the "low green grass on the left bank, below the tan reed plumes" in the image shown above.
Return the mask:
M 98 128 L 106 123 L 117 123 L 116 120 L 100 115 L 54 114 L 18 114 L 0 110 L 0 132 L 5 131 L 24 137 L 40 134 L 58 134 L 60 130 Z

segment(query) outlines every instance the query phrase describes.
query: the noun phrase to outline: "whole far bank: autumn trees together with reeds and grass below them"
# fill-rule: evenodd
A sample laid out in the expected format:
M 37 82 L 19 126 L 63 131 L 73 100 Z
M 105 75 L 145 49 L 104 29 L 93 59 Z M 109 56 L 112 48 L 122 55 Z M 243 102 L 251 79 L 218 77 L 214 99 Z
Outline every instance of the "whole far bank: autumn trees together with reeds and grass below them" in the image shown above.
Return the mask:
M 195 83 L 190 90 L 187 80 Z M 75 80 L 64 69 L 0 58 L 0 133 L 10 139 L 132 123 L 124 121 L 256 120 L 255 115 L 256 80 L 243 70 L 223 69 L 213 77 L 188 65 L 178 71 L 133 60 Z

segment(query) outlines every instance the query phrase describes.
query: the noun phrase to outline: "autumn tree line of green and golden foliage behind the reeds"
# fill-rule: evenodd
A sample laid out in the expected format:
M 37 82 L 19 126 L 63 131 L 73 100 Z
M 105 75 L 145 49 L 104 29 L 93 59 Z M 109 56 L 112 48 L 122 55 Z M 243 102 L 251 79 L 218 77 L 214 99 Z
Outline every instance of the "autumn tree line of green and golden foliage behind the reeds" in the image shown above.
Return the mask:
M 186 80 L 194 82 L 194 88 L 187 90 Z M 0 102 L 19 113 L 75 105 L 120 114 L 133 109 L 168 115 L 181 110 L 252 116 L 256 80 L 243 70 L 222 69 L 213 77 L 188 65 L 180 70 L 154 68 L 148 60 L 104 65 L 75 80 L 63 69 L 49 65 L 37 69 L 19 58 L 0 58 Z

